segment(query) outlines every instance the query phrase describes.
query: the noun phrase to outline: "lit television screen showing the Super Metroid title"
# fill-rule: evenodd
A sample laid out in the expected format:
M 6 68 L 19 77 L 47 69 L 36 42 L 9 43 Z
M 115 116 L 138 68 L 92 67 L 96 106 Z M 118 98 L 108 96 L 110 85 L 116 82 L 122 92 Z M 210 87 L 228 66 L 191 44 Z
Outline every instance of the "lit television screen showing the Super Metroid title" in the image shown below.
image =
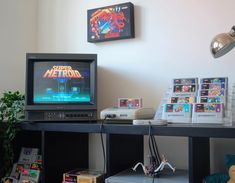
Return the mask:
M 90 102 L 90 65 L 37 62 L 34 65 L 33 87 L 34 103 Z

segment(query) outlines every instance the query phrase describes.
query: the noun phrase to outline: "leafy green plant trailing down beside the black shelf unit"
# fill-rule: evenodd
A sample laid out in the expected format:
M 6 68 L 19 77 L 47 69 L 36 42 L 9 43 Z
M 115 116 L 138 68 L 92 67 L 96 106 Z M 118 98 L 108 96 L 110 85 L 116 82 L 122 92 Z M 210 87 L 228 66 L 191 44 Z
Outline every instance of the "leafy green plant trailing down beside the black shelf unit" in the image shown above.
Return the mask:
M 13 166 L 13 140 L 19 130 L 16 126 L 24 117 L 24 95 L 19 91 L 4 92 L 0 98 L 0 144 L 3 156 L 0 177 L 9 176 Z M 3 166 L 2 166 L 3 165 Z

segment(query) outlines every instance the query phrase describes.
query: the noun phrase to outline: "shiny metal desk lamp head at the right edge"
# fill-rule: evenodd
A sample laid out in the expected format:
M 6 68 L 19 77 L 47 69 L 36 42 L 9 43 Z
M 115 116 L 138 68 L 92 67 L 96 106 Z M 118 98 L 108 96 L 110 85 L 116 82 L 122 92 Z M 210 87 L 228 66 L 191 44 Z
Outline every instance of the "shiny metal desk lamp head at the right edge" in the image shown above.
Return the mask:
M 235 47 L 235 26 L 228 33 L 221 33 L 211 42 L 211 53 L 214 58 L 221 57 Z

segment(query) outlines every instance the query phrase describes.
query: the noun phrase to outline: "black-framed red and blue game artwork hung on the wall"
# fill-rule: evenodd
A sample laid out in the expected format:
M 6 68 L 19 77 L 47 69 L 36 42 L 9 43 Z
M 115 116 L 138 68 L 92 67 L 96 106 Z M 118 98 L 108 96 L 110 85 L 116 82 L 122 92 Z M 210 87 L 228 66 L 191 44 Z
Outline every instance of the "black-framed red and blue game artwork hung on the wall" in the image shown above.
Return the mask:
M 88 10 L 87 20 L 88 42 L 135 37 L 134 5 L 130 2 Z

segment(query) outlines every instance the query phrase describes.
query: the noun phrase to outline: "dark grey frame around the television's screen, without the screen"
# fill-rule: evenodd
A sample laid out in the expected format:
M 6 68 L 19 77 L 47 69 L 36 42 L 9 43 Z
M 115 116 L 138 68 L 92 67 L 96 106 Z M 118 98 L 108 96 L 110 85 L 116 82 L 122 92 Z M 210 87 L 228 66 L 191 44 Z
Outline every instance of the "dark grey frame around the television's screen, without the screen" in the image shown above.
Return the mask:
M 90 62 L 90 94 L 89 103 L 34 103 L 33 77 L 35 62 Z M 96 110 L 97 109 L 97 54 L 72 53 L 27 53 L 26 54 L 26 82 L 25 82 L 25 110 Z

